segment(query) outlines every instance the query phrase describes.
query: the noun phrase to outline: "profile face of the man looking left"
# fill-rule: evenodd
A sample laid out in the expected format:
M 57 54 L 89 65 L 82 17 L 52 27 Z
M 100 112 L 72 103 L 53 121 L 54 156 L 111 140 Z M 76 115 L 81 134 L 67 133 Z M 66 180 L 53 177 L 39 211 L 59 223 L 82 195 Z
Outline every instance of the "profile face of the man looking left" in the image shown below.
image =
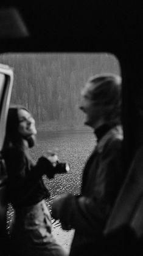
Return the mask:
M 99 105 L 91 99 L 90 94 L 92 85 L 87 83 L 82 91 L 82 101 L 80 104 L 80 109 L 85 113 L 85 124 L 96 129 L 103 122 L 102 110 Z M 89 93 L 90 91 L 90 93 Z

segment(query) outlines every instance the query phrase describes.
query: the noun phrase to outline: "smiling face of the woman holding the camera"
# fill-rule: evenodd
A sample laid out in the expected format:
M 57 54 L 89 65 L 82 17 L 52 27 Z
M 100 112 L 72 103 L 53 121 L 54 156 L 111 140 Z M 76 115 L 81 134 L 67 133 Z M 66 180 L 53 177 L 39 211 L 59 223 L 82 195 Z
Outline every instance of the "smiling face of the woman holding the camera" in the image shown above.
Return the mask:
M 32 135 L 37 134 L 37 130 L 35 127 L 35 120 L 33 119 L 32 115 L 23 108 L 18 110 L 18 119 L 19 119 L 19 126 L 18 132 L 21 137 L 29 138 Z

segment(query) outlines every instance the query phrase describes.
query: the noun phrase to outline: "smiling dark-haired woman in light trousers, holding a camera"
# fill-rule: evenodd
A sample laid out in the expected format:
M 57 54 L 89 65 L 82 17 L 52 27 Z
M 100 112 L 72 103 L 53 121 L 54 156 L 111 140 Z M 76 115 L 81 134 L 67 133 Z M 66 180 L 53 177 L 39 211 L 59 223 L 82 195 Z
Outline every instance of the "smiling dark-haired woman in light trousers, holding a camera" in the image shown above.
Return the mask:
M 53 178 L 57 157 L 40 157 L 37 164 L 29 155 L 35 145 L 35 120 L 24 107 L 11 107 L 2 155 L 9 175 L 7 196 L 15 209 L 11 228 L 12 252 L 16 256 L 65 256 L 51 233 L 51 214 L 44 198 L 49 192 L 42 176 Z

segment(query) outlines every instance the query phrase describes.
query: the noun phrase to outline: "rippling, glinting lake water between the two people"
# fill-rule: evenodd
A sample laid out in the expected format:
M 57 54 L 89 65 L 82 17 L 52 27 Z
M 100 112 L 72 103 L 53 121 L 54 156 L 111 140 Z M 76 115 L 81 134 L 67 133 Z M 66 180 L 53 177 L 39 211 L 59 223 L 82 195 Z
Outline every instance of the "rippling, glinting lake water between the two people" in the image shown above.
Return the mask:
M 58 157 L 61 161 L 67 160 L 70 166 L 70 173 L 57 174 L 54 179 L 47 179 L 44 176 L 44 183 L 51 193 L 51 198 L 46 201 L 51 210 L 52 199 L 62 193 L 80 193 L 83 167 L 86 160 L 96 144 L 96 138 L 92 132 L 40 132 L 38 134 L 37 146 L 31 149 L 33 159 L 36 161 L 48 150 L 58 149 Z M 12 216 L 12 208 L 9 210 Z M 52 220 L 55 239 L 66 250 L 69 250 L 74 230 L 63 231 L 58 221 Z

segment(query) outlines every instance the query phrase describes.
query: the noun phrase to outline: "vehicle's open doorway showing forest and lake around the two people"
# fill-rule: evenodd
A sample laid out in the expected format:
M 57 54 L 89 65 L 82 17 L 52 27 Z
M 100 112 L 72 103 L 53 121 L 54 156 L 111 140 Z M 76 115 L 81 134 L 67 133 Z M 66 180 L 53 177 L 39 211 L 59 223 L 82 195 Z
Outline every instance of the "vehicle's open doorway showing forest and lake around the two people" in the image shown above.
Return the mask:
M 80 91 L 91 75 L 119 75 L 119 62 L 108 53 L 15 53 L 1 55 L 0 62 L 13 67 L 11 103 L 27 107 L 36 120 L 38 138 L 31 149 L 33 159 L 56 149 L 60 160 L 69 162 L 68 175 L 57 175 L 51 181 L 44 177 L 51 192 L 51 198 L 46 200 L 51 209 L 53 198 L 62 192 L 80 192 L 83 166 L 95 145 L 94 135 L 84 125 L 84 114 L 78 108 Z M 12 216 L 9 205 L 8 229 Z M 69 248 L 73 230 L 64 232 L 54 222 L 53 232 L 58 243 Z

